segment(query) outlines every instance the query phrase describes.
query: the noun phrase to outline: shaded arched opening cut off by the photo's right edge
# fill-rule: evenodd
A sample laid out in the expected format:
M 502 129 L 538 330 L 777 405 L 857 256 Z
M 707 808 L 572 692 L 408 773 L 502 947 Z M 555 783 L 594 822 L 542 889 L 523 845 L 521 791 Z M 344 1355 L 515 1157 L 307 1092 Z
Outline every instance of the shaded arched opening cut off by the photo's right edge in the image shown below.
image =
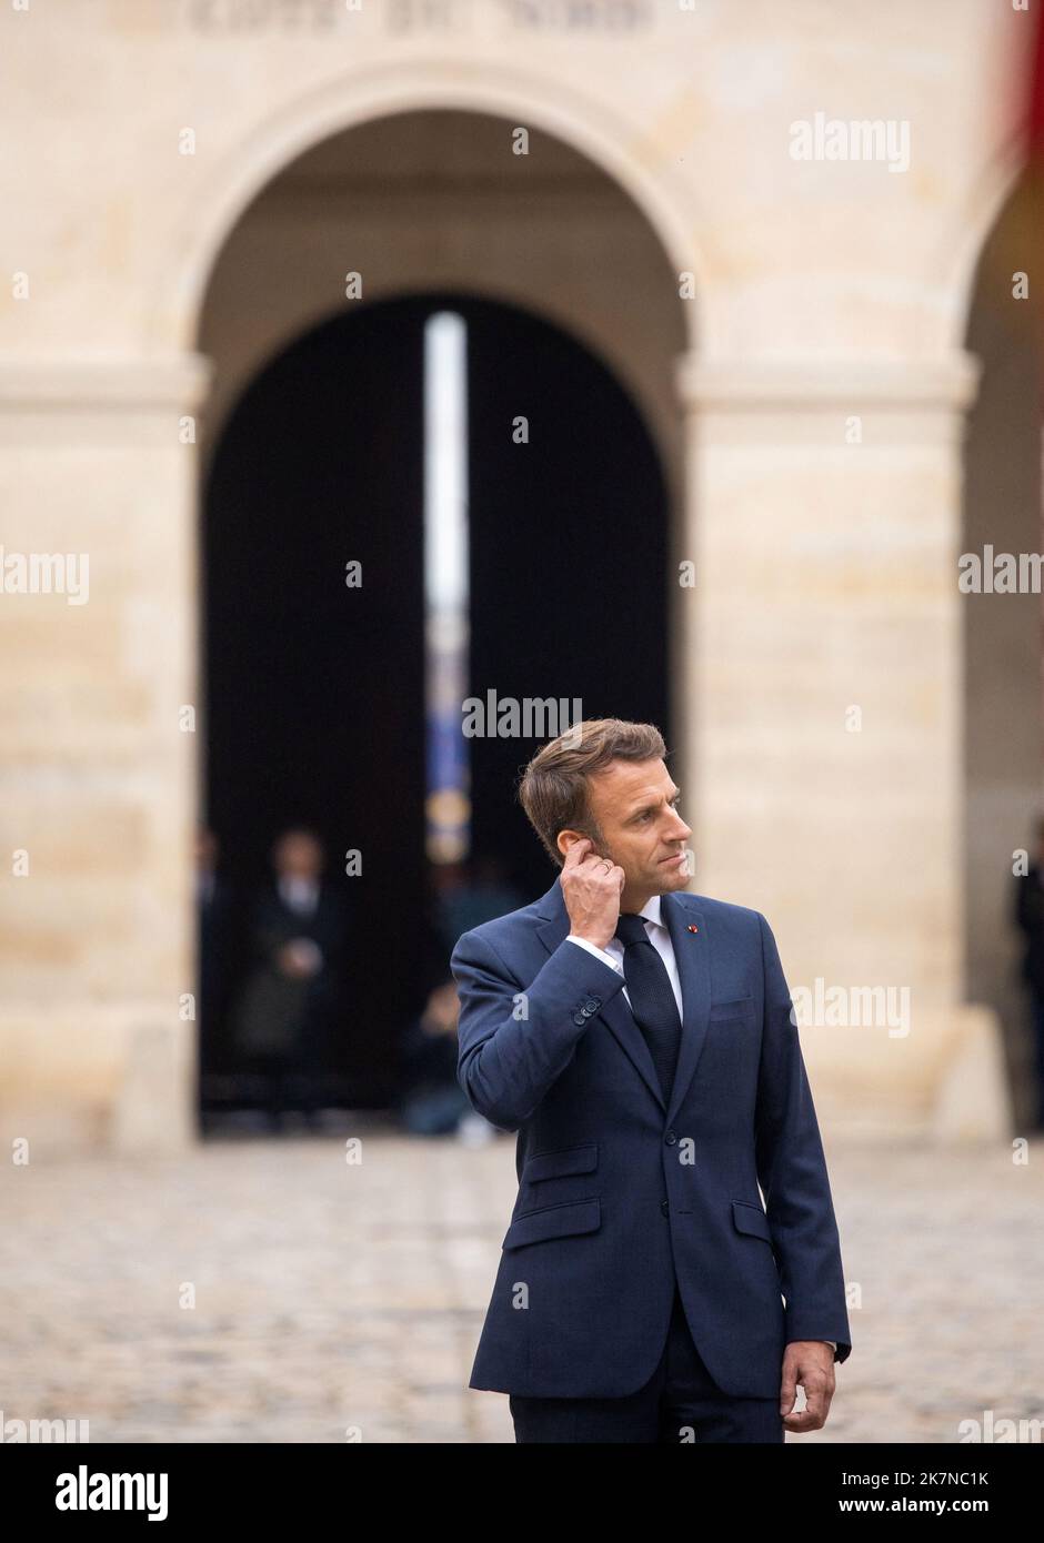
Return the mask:
M 967 991 L 999 1015 L 1016 1129 L 1036 1116 L 1013 863 L 1019 850 L 1035 859 L 1033 827 L 1044 813 L 1044 596 L 1025 586 L 1008 593 L 996 563 L 1044 551 L 1041 307 L 1019 281 L 1039 230 L 1039 185 L 1025 177 L 995 222 L 973 287 L 967 347 L 982 376 L 967 427 L 961 539 L 984 577 L 962 597 Z

